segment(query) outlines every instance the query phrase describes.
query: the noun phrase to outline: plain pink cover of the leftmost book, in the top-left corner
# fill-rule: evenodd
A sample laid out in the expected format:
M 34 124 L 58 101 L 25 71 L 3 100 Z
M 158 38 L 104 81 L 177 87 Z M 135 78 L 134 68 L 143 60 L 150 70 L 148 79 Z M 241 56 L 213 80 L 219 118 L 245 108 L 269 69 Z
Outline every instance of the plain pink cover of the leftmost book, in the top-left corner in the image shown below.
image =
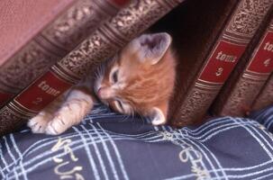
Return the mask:
M 76 0 L 0 1 L 0 67 Z M 35 10 L 35 11 L 33 11 Z

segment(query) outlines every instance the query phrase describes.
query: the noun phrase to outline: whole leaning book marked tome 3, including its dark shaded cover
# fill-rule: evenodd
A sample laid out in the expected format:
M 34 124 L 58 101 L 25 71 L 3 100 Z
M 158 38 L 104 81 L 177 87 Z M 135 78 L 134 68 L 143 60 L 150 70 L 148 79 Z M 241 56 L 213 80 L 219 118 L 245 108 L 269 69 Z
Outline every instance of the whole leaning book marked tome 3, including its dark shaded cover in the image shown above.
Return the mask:
M 192 2 L 188 1 L 188 4 Z M 213 1 L 205 2 L 214 6 Z M 210 9 L 210 6 L 205 6 L 205 3 L 204 6 L 196 4 L 198 10 L 205 12 L 204 17 L 218 12 L 211 19 L 196 16 L 198 11 L 194 9 L 191 9 L 193 13 L 186 9 L 193 17 L 188 17 L 189 23 L 187 20 L 180 22 L 187 26 L 182 29 L 185 31 L 180 31 L 180 39 L 184 40 L 180 42 L 182 48 L 178 49 L 182 54 L 177 74 L 179 90 L 169 110 L 169 119 L 175 126 L 204 121 L 205 113 L 241 58 L 273 0 L 214 3 L 222 11 L 217 7 L 215 12 L 208 11 L 206 8 Z M 195 23 L 199 23 L 196 30 L 193 28 Z M 194 34 L 195 31 L 200 34 Z

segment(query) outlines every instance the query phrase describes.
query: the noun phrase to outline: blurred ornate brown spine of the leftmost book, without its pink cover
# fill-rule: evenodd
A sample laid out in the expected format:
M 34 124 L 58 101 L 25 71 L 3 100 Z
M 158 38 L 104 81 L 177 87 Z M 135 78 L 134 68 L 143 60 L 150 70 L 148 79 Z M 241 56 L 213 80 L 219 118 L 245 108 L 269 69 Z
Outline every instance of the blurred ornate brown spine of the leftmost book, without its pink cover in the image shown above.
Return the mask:
M 9 58 L 0 71 L 0 107 L 76 48 L 129 0 L 79 0 Z

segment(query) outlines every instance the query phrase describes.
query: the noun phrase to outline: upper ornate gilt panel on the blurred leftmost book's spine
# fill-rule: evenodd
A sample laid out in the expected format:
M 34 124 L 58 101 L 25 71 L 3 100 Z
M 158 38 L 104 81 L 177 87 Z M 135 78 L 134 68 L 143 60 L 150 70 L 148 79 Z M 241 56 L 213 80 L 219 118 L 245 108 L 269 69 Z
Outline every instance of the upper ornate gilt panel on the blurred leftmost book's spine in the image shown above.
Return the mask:
M 107 11 L 105 11 L 105 9 Z M 94 32 L 104 20 L 114 16 L 117 8 L 107 1 L 81 0 L 77 1 L 66 14 L 41 32 L 44 39 L 49 40 L 57 47 L 70 51 L 86 36 Z

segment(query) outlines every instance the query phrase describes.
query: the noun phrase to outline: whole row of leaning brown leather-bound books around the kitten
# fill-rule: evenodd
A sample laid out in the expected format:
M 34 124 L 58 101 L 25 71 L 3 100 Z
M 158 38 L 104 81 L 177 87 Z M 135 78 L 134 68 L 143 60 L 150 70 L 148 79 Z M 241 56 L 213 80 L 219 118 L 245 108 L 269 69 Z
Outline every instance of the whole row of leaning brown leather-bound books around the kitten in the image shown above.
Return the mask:
M 31 5 L 46 4 L 51 14 L 38 11 L 28 30 L 18 34 L 20 43 L 14 39 L 8 56 L 0 54 L 0 135 L 20 128 L 147 29 L 173 36 L 178 62 L 168 110 L 172 125 L 200 123 L 208 114 L 242 116 L 273 103 L 273 0 L 70 0 Z M 31 5 L 20 8 L 26 17 Z M 0 14 L 0 22 L 8 24 L 2 18 L 9 12 Z

